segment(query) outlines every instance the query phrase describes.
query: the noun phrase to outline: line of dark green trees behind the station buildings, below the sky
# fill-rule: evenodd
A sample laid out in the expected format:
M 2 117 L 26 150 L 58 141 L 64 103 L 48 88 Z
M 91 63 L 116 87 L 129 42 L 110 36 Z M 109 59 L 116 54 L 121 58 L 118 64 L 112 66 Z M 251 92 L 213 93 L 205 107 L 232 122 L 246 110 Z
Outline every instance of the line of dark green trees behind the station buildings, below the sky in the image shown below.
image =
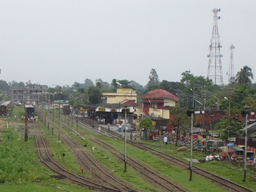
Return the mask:
M 102 93 L 116 92 L 116 88 L 133 88 L 138 93 L 138 104 L 140 104 L 141 96 L 148 91 L 154 89 L 163 89 L 178 97 L 178 104 L 173 112 L 176 119 L 173 120 L 175 126 L 186 126 L 187 118 L 184 116 L 187 109 L 194 110 L 222 110 L 227 112 L 230 117 L 238 116 L 244 106 L 249 110 L 256 110 L 256 84 L 252 83 L 253 74 L 249 66 L 244 66 L 236 74 L 233 82 L 227 85 L 214 85 L 212 80 L 208 80 L 203 76 L 195 76 L 190 71 L 181 74 L 179 82 L 170 82 L 167 80 L 159 81 L 157 71 L 151 69 L 148 76 L 148 83 L 143 86 L 133 80 L 116 80 L 113 79 L 109 84 L 100 78 L 95 81 L 86 79 L 84 83 L 74 82 L 73 85 L 61 87 L 61 100 L 68 100 L 74 108 L 78 104 L 99 104 L 101 102 Z M 0 81 L 1 93 L 10 94 L 12 88 L 26 88 L 28 85 L 34 84 L 30 80 L 28 82 L 5 82 Z M 36 83 L 35 85 L 39 85 Z M 59 86 L 48 88 L 49 93 L 58 93 Z M 6 94 L 3 94 L 6 96 Z M 53 97 L 53 96 L 50 96 Z M 56 97 L 59 99 L 59 96 Z M 46 100 L 45 96 L 41 97 Z M 52 98 L 51 98 L 52 99 Z M 236 135 L 239 124 L 233 118 L 229 120 L 223 119 L 217 124 L 219 128 L 229 131 L 230 136 Z

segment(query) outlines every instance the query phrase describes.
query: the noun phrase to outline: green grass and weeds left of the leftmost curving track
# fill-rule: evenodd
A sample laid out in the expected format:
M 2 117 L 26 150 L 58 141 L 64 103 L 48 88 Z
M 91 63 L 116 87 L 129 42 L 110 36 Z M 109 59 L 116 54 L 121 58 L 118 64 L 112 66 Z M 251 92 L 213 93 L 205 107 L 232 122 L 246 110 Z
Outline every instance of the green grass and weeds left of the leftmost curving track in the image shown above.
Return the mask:
M 7 119 L 6 119 L 7 120 Z M 11 120 L 12 121 L 12 120 Z M 29 135 L 24 142 L 24 126 L 9 126 L 1 121 L 0 131 L 0 188 L 1 191 L 91 191 L 56 180 L 50 177 L 50 172 L 39 162 L 34 137 Z

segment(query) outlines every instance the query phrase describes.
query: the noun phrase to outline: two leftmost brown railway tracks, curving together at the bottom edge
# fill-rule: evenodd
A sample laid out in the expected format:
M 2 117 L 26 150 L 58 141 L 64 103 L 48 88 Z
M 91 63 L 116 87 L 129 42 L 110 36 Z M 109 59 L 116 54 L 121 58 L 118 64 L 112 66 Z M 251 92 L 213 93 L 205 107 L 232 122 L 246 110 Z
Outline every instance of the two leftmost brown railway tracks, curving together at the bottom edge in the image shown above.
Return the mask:
M 45 144 L 45 140 L 39 131 L 38 125 L 36 123 L 31 123 L 31 127 L 34 131 L 34 138 L 37 145 L 39 159 L 43 164 L 45 164 L 45 166 L 48 166 L 48 168 L 52 169 L 53 172 L 56 172 L 62 177 L 66 177 L 68 180 L 72 181 L 72 183 L 77 183 L 78 185 L 83 185 L 96 191 L 135 191 L 134 189 L 129 188 L 129 186 L 118 182 L 118 180 L 116 180 L 114 177 L 111 177 L 109 174 L 103 171 L 103 169 L 97 166 L 97 164 L 89 157 L 89 155 L 84 153 L 82 147 L 76 145 L 73 139 L 67 137 L 67 134 L 64 134 L 64 132 L 61 132 L 59 129 L 61 137 L 65 140 L 65 142 L 68 143 L 72 150 L 74 150 L 76 155 L 79 156 L 80 164 L 83 163 L 84 167 L 93 175 L 93 177 L 92 179 L 88 179 L 81 175 L 69 172 L 67 169 L 64 169 L 64 167 L 54 161 L 51 157 L 51 153 L 48 151 L 48 146 Z M 86 161 L 83 159 L 86 159 Z

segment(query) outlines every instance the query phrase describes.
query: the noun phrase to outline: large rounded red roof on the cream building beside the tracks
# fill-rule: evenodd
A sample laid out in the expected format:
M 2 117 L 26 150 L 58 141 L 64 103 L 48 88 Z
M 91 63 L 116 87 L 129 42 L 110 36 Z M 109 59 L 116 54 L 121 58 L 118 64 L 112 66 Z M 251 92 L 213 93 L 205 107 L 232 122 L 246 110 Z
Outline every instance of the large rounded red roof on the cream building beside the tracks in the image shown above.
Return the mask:
M 149 91 L 142 96 L 142 99 L 173 99 L 174 101 L 178 102 L 177 96 L 163 89 L 155 89 L 153 91 Z

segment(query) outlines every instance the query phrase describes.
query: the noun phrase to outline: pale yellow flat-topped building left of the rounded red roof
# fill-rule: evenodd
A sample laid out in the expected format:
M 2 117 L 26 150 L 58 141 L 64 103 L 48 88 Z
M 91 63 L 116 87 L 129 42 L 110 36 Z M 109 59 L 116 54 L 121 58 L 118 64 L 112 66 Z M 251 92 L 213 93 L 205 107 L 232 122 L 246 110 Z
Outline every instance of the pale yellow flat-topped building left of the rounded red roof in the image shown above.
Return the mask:
M 132 88 L 117 88 L 116 93 L 102 93 L 102 104 L 118 104 L 125 99 L 137 103 L 137 93 Z

